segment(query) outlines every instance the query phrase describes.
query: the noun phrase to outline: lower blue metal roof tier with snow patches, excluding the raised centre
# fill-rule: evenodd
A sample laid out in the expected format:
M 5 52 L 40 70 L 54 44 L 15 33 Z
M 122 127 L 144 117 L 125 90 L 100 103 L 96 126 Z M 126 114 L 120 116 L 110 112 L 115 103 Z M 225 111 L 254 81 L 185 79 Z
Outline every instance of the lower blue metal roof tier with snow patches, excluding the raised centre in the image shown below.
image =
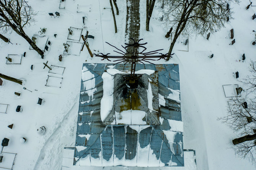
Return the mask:
M 119 71 L 131 67 L 131 64 L 112 65 L 83 64 L 82 77 L 85 72 L 91 76 L 81 81 L 74 165 L 184 166 L 183 130 L 177 128 L 178 125 L 183 129 L 178 64 L 136 64 L 136 71 L 151 69 L 158 74 L 157 79 L 151 76 L 151 80 L 158 85 L 158 95 L 153 95 L 154 98 L 157 102 L 161 99 L 157 108 L 159 117 L 152 117 L 159 123 L 147 121 L 147 125 L 111 125 L 100 119 L 102 74 L 109 66 Z M 172 97 L 173 91 L 178 93 L 178 99 Z

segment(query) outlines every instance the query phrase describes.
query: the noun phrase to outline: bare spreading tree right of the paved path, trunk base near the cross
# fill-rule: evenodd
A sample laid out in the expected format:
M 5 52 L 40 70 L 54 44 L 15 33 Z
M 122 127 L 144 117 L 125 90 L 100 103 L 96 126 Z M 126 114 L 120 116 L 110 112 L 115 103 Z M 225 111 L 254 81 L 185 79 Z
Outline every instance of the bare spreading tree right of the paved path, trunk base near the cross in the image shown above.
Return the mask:
M 204 34 L 224 27 L 227 17 L 231 18 L 232 14 L 227 7 L 230 2 L 238 0 L 164 0 L 165 24 L 176 28 L 168 55 L 183 30 Z

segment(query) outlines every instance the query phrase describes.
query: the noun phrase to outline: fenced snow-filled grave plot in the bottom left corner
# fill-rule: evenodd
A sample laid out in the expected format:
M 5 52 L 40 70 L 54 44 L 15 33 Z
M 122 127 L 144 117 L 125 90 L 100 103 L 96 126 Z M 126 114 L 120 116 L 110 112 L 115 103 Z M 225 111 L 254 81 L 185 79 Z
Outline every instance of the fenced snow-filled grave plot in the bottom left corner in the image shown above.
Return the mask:
M 17 154 L 2 152 L 1 155 L 3 156 L 3 160 L 0 163 L 0 168 L 13 169 L 13 165 L 14 165 Z

